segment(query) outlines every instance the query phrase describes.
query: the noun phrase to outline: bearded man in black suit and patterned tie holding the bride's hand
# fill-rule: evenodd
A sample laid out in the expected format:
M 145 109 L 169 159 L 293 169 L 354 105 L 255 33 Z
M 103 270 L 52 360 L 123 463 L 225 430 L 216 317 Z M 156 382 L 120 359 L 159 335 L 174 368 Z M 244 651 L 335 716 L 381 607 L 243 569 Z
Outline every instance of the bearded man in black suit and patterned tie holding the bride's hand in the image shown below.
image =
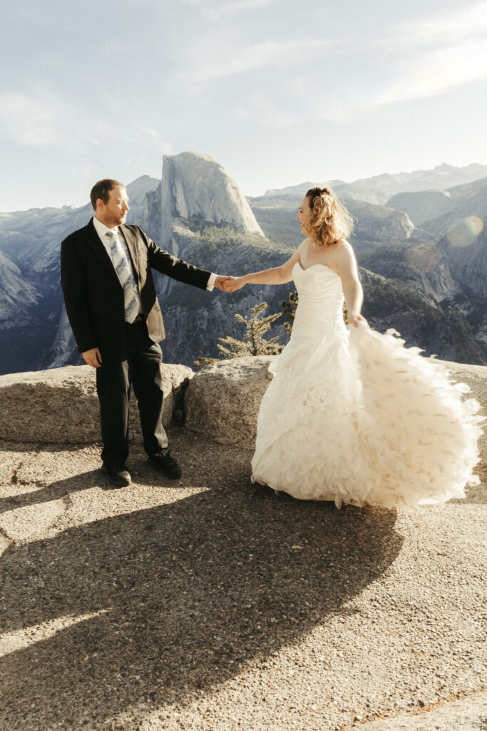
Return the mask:
M 125 225 L 129 197 L 115 180 L 91 190 L 94 217 L 61 243 L 61 287 L 80 353 L 96 368 L 101 459 L 117 488 L 130 485 L 129 394 L 139 404 L 144 448 L 165 477 L 181 476 L 162 425 L 161 348 L 164 323 L 152 269 L 200 289 L 223 289 L 231 277 L 198 269 L 156 246 L 138 226 Z

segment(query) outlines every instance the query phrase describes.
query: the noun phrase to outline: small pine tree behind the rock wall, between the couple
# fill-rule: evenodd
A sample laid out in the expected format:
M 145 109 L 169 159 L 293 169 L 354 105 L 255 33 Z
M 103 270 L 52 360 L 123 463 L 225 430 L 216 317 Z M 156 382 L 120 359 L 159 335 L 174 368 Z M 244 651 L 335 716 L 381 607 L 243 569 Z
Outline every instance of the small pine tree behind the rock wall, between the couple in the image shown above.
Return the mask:
M 243 317 L 240 314 L 236 314 L 234 317 L 237 322 L 245 325 L 245 336 L 243 340 L 237 340 L 231 336 L 226 338 L 218 338 L 220 341 L 217 344 L 218 350 L 221 352 L 221 358 L 207 358 L 199 357 L 194 361 L 193 366 L 195 368 L 202 368 L 208 366 L 210 363 L 217 363 L 218 360 L 228 360 L 229 358 L 238 358 L 242 355 L 277 355 L 282 352 L 283 345 L 278 343 L 279 336 L 270 338 L 267 340 L 264 338 L 267 330 L 278 317 L 281 317 L 282 312 L 277 312 L 273 315 L 267 315 L 259 319 L 259 316 L 268 307 L 266 302 L 261 302 L 260 305 L 254 305 L 250 312 L 250 317 Z

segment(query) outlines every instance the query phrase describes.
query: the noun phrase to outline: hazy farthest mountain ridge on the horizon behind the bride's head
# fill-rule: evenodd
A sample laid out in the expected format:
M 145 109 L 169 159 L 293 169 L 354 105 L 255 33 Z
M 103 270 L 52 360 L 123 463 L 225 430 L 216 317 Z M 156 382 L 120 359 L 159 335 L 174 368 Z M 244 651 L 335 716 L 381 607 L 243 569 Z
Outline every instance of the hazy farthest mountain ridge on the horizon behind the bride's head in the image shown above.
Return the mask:
M 413 173 L 383 173 L 371 178 L 361 178 L 353 183 L 329 181 L 328 183 L 301 183 L 281 190 L 269 190 L 264 195 L 276 197 L 285 194 L 301 194 L 315 185 L 330 186 L 340 197 L 354 198 L 369 203 L 386 203 L 393 195 L 403 192 L 444 190 L 464 183 L 472 183 L 487 175 L 487 165 L 472 163 L 454 167 L 445 162 L 433 170 L 414 170 Z

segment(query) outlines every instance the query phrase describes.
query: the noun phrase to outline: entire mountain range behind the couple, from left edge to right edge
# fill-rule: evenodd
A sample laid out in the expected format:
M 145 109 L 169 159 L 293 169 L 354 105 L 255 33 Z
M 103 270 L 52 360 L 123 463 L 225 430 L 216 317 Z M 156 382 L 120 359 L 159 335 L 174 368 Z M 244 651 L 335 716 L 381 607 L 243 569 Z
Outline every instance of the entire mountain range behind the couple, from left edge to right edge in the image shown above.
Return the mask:
M 446 178 L 452 170 L 467 170 L 447 167 Z M 469 363 L 486 363 L 487 352 L 486 220 L 479 213 L 480 183 L 456 186 L 459 190 L 451 196 L 471 202 L 475 226 L 473 219 L 468 225 L 463 220 L 443 236 L 435 233 L 439 224 L 428 230 L 428 221 L 415 225 L 407 211 L 391 205 L 390 196 L 388 205 L 345 198 L 355 219 L 350 240 L 361 266 L 364 314 L 372 325 L 396 327 L 407 344 L 427 355 Z M 280 265 L 302 240 L 296 221 L 302 192 L 247 200 L 223 167 L 202 153 L 165 156 L 160 181 L 144 175 L 127 191 L 129 222 L 140 224 L 172 254 L 216 273 L 238 275 Z M 437 210 L 432 207 L 434 215 Z M 458 210 L 448 208 L 433 220 Z M 1 372 L 80 363 L 62 301 L 59 248 L 91 215 L 89 205 L 0 214 Z M 219 337 L 242 338 L 234 314 L 248 314 L 263 300 L 269 314 L 281 311 L 294 290 L 290 282 L 227 295 L 187 287 L 158 273 L 154 277 L 168 333 L 164 360 L 187 365 L 199 356 L 218 355 Z M 283 319 L 273 329 L 285 342 Z

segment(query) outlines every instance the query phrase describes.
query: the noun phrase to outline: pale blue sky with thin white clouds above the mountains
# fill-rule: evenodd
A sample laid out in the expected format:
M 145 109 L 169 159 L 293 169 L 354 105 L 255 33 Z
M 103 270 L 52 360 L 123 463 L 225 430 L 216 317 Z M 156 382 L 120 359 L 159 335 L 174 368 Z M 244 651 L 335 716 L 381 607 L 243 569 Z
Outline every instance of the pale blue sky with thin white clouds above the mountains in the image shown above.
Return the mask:
M 0 211 L 200 151 L 246 195 L 487 164 L 487 0 L 0 0 Z

